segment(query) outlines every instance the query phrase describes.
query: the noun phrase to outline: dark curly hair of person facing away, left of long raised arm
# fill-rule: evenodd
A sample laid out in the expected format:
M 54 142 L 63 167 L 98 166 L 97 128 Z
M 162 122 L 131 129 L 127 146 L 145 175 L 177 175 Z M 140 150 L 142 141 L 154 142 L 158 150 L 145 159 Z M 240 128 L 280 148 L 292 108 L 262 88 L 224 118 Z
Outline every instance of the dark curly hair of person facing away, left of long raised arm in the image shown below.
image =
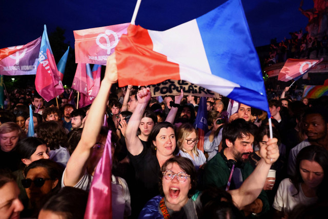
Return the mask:
M 67 134 L 63 126 L 55 121 L 46 121 L 36 127 L 36 135 L 42 138 L 50 150 L 58 149 L 59 146 L 67 148 Z

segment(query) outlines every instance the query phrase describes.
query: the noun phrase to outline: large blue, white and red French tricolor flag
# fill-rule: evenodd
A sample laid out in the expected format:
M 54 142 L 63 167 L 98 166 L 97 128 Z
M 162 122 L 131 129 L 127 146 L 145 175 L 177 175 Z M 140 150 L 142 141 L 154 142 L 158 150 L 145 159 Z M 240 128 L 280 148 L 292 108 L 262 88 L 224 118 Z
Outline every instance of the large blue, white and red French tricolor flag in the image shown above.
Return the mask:
M 269 112 L 240 0 L 166 31 L 130 25 L 115 48 L 119 87 L 185 80 Z

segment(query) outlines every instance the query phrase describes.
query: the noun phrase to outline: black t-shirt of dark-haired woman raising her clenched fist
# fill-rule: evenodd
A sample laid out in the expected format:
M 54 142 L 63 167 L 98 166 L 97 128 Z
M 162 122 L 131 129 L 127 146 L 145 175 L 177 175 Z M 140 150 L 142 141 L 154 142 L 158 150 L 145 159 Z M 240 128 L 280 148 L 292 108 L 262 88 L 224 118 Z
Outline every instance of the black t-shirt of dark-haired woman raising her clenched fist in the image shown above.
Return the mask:
M 145 204 L 159 195 L 160 167 L 156 154 L 141 141 L 144 149 L 136 156 L 129 154 L 130 163 L 135 170 L 135 186 L 131 191 L 132 214 L 138 215 Z

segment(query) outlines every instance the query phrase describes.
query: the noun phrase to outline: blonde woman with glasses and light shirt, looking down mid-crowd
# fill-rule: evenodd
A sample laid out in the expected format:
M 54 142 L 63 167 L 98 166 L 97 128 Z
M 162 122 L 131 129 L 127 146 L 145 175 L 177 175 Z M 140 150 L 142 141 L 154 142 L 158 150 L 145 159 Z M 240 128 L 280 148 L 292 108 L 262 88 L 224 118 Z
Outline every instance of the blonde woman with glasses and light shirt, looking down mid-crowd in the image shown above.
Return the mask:
M 177 138 L 179 155 L 189 158 L 198 170 L 206 162 L 206 157 L 201 150 L 197 149 L 199 138 L 196 129 L 190 123 L 185 123 L 179 127 Z

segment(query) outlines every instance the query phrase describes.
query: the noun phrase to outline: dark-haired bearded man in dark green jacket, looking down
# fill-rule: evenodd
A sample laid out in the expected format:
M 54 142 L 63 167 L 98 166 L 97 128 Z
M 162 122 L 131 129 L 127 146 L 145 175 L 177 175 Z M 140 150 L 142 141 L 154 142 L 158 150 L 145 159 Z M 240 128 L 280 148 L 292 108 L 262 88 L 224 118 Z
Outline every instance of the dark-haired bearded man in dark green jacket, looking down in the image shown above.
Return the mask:
M 253 152 L 254 134 L 257 126 L 242 118 L 237 118 L 225 124 L 222 131 L 222 150 L 217 153 L 205 166 L 203 185 L 221 189 L 238 189 L 242 182 L 253 172 L 248 162 Z M 228 181 L 230 174 L 230 187 Z M 263 214 L 269 210 L 268 196 L 264 191 L 250 205 L 243 209 L 245 216 Z

